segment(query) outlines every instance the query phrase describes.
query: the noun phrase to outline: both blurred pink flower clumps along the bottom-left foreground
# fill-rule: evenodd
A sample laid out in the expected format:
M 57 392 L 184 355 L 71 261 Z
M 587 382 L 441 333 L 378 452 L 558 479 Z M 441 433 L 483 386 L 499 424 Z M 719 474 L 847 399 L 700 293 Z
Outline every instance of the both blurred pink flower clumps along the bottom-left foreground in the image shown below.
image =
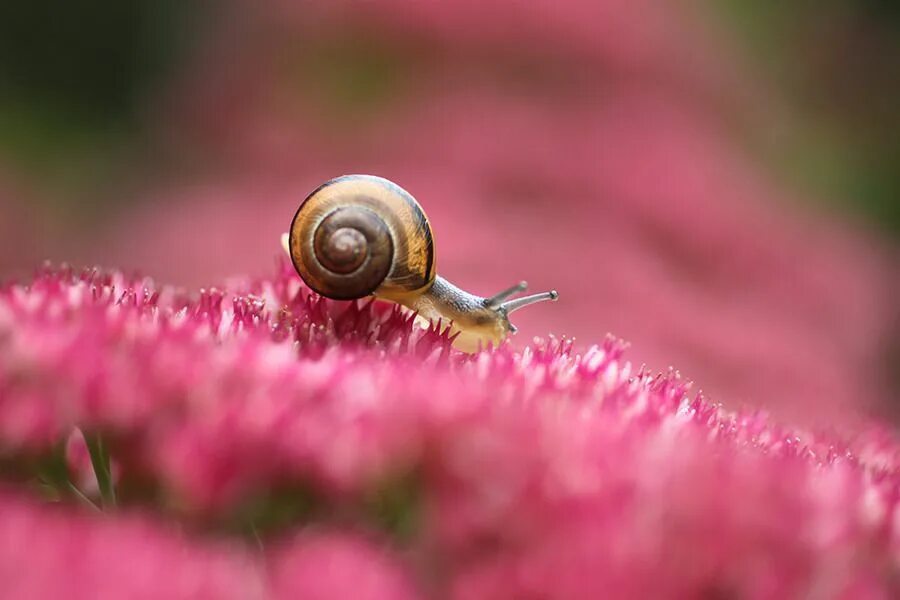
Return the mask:
M 395 561 L 363 536 L 310 533 L 263 557 L 190 540 L 147 518 L 98 518 L 0 496 L 4 598 L 136 600 L 413 598 Z

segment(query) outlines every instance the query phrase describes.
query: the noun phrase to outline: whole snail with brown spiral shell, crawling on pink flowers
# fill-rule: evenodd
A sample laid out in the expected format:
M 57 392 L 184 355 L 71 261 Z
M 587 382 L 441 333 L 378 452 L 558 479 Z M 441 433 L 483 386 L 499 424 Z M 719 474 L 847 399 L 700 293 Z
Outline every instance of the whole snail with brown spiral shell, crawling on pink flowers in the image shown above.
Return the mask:
M 474 352 L 499 345 L 516 328 L 509 314 L 556 291 L 510 299 L 522 281 L 483 298 L 435 272 L 435 247 L 425 211 L 397 184 L 372 175 L 345 175 L 314 190 L 300 204 L 287 250 L 313 291 L 336 300 L 366 296 L 401 304 L 450 327 L 454 347 Z

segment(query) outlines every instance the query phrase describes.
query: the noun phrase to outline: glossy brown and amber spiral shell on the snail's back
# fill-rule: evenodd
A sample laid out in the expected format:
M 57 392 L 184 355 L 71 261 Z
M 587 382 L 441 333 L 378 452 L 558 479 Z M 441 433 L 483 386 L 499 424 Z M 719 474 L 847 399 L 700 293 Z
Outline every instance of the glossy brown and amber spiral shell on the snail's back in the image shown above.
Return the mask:
M 435 278 L 425 211 L 381 177 L 345 175 L 322 184 L 291 223 L 294 268 L 317 293 L 339 300 L 398 298 Z

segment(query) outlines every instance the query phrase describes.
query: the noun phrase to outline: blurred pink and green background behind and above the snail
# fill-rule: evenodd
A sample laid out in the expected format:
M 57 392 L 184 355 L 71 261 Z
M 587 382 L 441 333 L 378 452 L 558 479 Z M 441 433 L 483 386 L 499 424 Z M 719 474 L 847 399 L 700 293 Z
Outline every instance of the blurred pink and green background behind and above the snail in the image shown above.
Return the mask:
M 726 406 L 900 414 L 891 0 L 0 3 L 0 278 L 271 272 L 319 183 L 412 192 L 438 271 L 560 291 Z

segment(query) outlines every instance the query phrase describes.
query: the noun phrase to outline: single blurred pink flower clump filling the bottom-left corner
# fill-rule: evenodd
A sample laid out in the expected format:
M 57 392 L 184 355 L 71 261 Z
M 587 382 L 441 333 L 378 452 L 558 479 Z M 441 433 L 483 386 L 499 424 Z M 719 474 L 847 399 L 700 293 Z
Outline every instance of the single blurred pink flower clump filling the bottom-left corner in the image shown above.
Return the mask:
M 255 559 L 233 544 L 191 541 L 146 519 L 71 515 L 0 496 L 6 598 L 266 597 Z

